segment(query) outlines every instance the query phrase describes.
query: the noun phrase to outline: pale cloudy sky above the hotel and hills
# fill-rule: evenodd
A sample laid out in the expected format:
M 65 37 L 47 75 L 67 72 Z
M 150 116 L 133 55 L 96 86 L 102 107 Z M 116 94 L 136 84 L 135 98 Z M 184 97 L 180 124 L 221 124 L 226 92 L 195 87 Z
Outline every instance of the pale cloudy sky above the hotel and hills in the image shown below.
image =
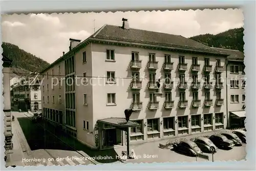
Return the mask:
M 84 40 L 104 24 L 191 37 L 243 26 L 241 9 L 2 15 L 2 41 L 49 63 L 69 50 L 69 38 Z

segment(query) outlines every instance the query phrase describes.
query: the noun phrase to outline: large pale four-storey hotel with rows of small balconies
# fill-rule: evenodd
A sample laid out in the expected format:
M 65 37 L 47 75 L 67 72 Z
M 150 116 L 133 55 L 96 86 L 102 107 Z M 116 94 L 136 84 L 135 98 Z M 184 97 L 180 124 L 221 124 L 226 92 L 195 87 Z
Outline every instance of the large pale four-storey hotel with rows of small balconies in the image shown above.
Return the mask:
M 70 39 L 69 52 L 40 72 L 44 118 L 98 149 L 126 145 L 117 129 L 125 109 L 138 123 L 131 143 L 225 129 L 227 56 L 180 35 L 129 28 L 123 18 L 121 27 Z

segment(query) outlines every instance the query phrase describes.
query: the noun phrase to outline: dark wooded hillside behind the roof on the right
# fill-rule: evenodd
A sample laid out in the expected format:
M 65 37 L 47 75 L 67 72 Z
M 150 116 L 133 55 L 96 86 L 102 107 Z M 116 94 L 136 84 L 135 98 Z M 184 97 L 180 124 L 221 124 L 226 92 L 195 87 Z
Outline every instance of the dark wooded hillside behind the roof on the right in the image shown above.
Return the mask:
M 215 48 L 225 48 L 244 51 L 243 40 L 243 28 L 230 29 L 228 31 L 213 35 L 213 34 L 201 34 L 194 37 L 189 37 L 195 41 L 198 41 L 204 45 Z

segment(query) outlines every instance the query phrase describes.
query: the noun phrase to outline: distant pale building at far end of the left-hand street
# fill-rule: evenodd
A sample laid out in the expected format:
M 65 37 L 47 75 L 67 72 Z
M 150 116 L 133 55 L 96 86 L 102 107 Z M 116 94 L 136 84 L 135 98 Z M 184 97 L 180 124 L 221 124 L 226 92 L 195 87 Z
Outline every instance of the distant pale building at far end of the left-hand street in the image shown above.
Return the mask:
M 31 112 L 41 110 L 41 76 L 31 73 L 27 78 L 22 78 L 13 85 L 11 90 L 12 105 L 23 111 Z

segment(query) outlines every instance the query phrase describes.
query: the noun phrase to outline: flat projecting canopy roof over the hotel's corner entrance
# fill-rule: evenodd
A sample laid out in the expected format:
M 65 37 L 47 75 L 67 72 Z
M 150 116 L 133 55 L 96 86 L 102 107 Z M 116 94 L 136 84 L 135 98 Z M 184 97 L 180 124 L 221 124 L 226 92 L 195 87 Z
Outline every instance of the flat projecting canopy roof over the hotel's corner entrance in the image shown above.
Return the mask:
M 111 118 L 99 119 L 98 122 L 110 124 L 110 125 L 113 125 L 114 127 L 120 127 L 120 128 L 139 126 L 137 122 L 134 122 L 131 120 L 126 122 L 125 118 L 111 117 Z

